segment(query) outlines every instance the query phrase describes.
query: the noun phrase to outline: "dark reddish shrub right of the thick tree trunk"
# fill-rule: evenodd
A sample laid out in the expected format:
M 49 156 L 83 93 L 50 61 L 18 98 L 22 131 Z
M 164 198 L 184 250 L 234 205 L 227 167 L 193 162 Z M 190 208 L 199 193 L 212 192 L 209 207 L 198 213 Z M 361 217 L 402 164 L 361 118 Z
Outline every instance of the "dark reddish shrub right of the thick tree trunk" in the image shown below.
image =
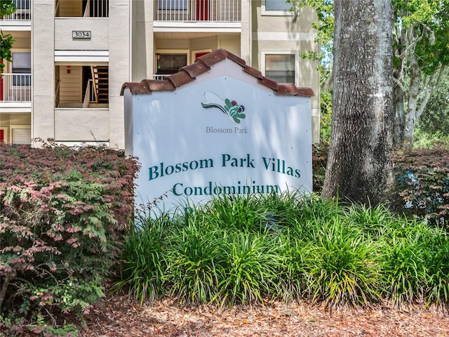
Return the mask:
M 394 152 L 396 209 L 436 224 L 449 223 L 449 149 Z

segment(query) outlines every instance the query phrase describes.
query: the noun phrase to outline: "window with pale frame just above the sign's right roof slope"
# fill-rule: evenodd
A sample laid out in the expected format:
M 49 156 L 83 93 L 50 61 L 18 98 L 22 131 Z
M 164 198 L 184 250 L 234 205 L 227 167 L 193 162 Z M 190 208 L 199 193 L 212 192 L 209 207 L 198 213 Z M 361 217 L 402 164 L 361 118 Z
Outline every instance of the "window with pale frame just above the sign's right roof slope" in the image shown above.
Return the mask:
M 278 83 L 295 84 L 295 53 L 262 53 L 262 69 L 269 79 Z

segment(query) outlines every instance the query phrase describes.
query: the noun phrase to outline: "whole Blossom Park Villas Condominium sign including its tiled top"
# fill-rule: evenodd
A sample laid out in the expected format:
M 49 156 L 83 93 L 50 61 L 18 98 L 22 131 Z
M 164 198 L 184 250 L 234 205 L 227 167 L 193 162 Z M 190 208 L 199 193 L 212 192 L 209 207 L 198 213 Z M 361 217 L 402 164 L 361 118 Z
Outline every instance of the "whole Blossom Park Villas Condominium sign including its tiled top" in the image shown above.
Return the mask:
M 163 81 L 126 83 L 122 93 L 126 154 L 142 165 L 137 205 L 311 192 L 311 89 L 276 84 L 218 50 Z

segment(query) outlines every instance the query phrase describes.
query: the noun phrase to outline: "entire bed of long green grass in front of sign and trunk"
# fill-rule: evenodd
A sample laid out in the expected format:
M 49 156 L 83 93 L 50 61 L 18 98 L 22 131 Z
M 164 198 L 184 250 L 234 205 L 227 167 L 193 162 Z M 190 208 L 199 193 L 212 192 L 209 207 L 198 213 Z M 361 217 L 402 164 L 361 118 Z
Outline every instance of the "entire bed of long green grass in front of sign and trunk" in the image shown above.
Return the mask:
M 139 300 L 170 295 L 185 305 L 219 306 L 309 300 L 330 309 L 382 300 L 399 308 L 448 305 L 448 234 L 384 206 L 341 206 L 297 192 L 239 194 L 161 217 L 129 237 L 130 246 L 148 250 L 126 249 L 122 256 L 123 270 L 132 270 L 126 284 Z

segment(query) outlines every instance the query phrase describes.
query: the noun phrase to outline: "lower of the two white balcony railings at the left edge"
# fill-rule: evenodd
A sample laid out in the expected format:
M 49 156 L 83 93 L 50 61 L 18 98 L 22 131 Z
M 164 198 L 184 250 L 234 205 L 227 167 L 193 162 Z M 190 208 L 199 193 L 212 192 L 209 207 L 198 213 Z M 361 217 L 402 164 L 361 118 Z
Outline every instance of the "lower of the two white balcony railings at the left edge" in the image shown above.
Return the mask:
M 31 102 L 31 74 L 2 74 L 0 102 Z

